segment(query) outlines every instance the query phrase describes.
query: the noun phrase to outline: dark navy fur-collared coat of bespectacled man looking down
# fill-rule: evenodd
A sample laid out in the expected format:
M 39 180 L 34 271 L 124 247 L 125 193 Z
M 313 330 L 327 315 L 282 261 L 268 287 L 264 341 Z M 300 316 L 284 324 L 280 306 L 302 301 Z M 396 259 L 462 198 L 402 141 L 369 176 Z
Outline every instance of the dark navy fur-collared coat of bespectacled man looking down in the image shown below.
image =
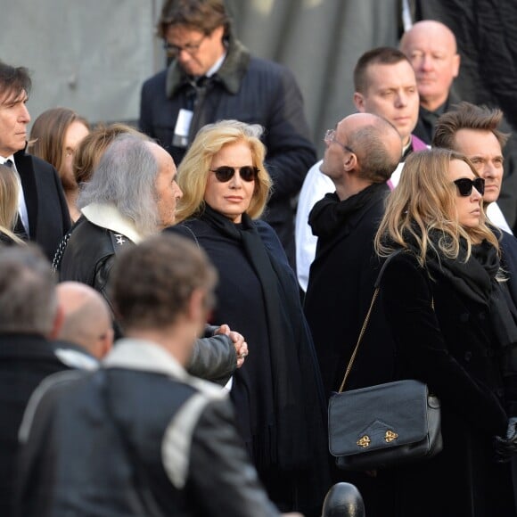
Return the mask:
M 172 145 L 176 119 L 192 94 L 193 86 L 176 62 L 148 79 L 142 88 L 140 129 L 157 139 L 176 165 L 186 151 L 185 147 Z M 300 87 L 290 70 L 251 57 L 231 38 L 226 61 L 209 82 L 204 103 L 198 103 L 194 111 L 190 142 L 202 126 L 220 119 L 265 127 L 262 139 L 267 147 L 266 167 L 274 189 L 264 218 L 275 228 L 293 265 L 292 198 L 300 192 L 308 168 L 316 161 Z

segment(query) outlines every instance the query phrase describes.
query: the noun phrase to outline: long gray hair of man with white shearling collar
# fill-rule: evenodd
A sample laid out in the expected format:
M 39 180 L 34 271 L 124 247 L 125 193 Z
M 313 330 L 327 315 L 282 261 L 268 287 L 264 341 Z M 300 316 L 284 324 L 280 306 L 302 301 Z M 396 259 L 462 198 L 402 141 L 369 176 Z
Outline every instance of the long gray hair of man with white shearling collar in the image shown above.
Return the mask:
M 78 208 L 90 203 L 114 205 L 144 236 L 156 234 L 160 217 L 156 177 L 159 164 L 151 142 L 120 135 L 108 146 L 91 180 L 82 185 Z

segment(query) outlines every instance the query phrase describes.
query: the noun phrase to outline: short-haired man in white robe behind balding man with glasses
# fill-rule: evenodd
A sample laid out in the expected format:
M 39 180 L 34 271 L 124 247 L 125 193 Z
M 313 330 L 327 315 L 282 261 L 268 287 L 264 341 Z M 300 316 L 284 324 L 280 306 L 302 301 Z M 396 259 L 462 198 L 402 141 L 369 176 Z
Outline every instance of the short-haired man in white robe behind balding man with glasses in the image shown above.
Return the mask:
M 396 48 L 373 48 L 357 60 L 354 87 L 357 111 L 387 119 L 402 138 L 403 156 L 390 178 L 390 186 L 395 186 L 407 154 L 427 147 L 412 133 L 418 119 L 418 92 L 413 67 Z M 296 213 L 296 266 L 303 291 L 307 291 L 309 268 L 316 253 L 316 236 L 308 225 L 308 214 L 316 201 L 335 189 L 331 179 L 320 171 L 322 163 L 320 160 L 309 169 L 301 187 Z

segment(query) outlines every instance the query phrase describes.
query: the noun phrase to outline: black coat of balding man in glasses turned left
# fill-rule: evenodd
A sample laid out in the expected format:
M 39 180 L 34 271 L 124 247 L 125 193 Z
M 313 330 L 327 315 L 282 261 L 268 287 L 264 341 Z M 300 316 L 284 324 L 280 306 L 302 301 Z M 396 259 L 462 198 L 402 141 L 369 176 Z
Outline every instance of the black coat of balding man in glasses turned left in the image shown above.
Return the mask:
M 318 237 L 304 310 L 327 397 L 340 388 L 372 300 L 379 266 L 373 253 L 373 236 L 388 192 L 388 186 L 378 187 L 370 200 L 351 212 L 332 235 Z M 382 318 L 382 311 L 373 314 L 347 382 L 348 389 L 392 379 L 392 342 L 385 332 L 377 334 L 376 329 L 382 327 L 375 324 L 377 318 Z M 378 343 L 382 347 L 376 346 Z

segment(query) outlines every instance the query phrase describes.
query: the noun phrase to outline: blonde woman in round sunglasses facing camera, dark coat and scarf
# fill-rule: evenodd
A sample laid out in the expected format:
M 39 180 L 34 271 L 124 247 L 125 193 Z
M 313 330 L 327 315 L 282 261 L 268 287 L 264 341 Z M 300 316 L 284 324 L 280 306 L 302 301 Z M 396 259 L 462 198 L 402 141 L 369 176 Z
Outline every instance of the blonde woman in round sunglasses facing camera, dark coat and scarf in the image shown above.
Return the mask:
M 259 219 L 271 192 L 262 127 L 202 127 L 178 168 L 183 192 L 168 230 L 197 242 L 219 274 L 210 323 L 246 336 L 231 398 L 242 440 L 282 512 L 321 514 L 329 488 L 325 405 L 296 277 L 275 231 Z

